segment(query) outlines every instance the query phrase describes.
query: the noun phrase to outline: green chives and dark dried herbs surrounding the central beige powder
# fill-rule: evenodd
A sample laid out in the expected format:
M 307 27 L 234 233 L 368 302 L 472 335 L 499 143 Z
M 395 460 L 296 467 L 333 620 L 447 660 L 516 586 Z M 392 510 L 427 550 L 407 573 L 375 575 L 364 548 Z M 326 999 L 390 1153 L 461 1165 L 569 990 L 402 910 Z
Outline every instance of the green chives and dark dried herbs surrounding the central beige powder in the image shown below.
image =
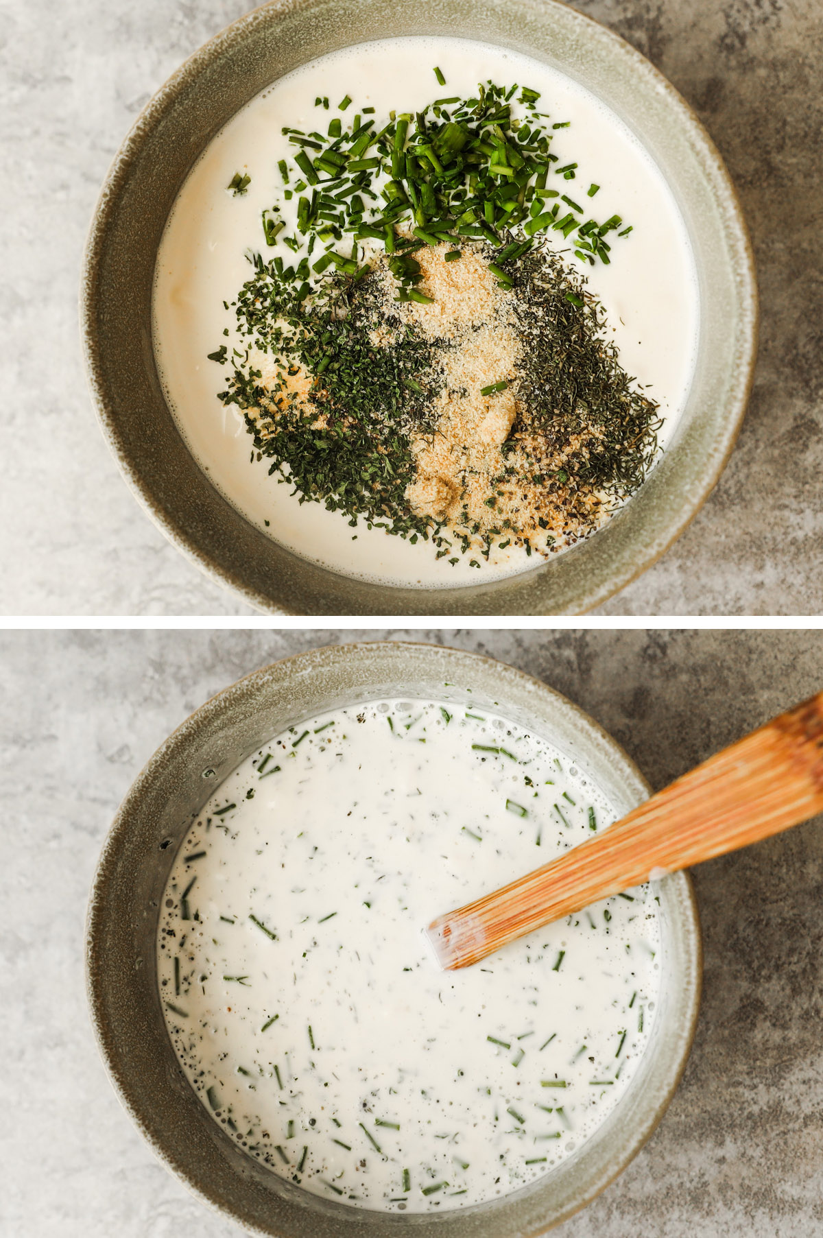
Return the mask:
M 276 204 L 264 210 L 262 230 L 267 246 L 303 253 L 291 266 L 249 255 L 254 276 L 233 302 L 241 343 L 209 354 L 230 366 L 219 397 L 243 410 L 252 461 L 267 458 L 301 503 L 342 511 L 353 527 L 364 517 L 370 529 L 412 542 L 432 539 L 438 557 L 452 550 L 444 530 L 462 552 L 481 547 L 486 558 L 495 543 L 512 540 L 528 553 L 531 537 L 548 548 L 554 537 L 545 531 L 558 525 L 564 540 L 575 540 L 597 526 L 597 495 L 634 493 L 656 452 L 656 405 L 632 391 L 616 349 L 604 343 L 600 307 L 547 245 L 547 234 L 558 232 L 578 259 L 609 262 L 606 236 L 623 219 L 600 223 L 571 196 L 578 166 L 556 166 L 551 151 L 553 130 L 568 121 L 549 128 L 538 99 L 536 90 L 489 82 L 469 99 L 391 113 L 377 129 L 373 108 L 347 123 L 347 95 L 325 134 L 285 128 L 296 154 L 278 167 L 283 199 L 296 198 L 296 228 L 287 233 Z M 512 115 L 514 102 L 525 120 Z M 316 106 L 333 110 L 327 98 Z M 549 187 L 554 177 L 562 177 L 558 188 Z M 249 183 L 238 172 L 228 189 L 245 194 Z M 598 189 L 593 183 L 577 197 L 590 202 Z M 318 243 L 327 248 L 316 256 Z M 446 261 L 459 261 L 465 246 L 483 253 L 500 288 L 515 293 L 524 340 L 520 411 L 501 467 L 486 478 L 483 510 L 464 503 L 448 529 L 446 519 L 412 510 L 406 491 L 417 477 L 412 442 L 438 432 L 434 402 L 449 343 L 392 316 L 374 274 L 384 262 L 395 302 L 428 305 L 415 255 L 443 243 L 452 246 Z M 391 338 L 377 345 L 381 328 Z M 528 491 L 515 506 L 519 516 L 507 509 L 515 489 Z

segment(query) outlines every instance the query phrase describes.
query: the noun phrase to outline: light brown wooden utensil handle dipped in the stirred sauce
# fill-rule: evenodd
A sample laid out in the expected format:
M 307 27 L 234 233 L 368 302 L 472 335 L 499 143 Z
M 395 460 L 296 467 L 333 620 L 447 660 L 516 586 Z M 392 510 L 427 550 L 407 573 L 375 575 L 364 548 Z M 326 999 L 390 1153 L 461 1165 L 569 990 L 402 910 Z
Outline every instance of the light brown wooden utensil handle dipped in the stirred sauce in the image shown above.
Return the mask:
M 724 748 L 601 834 L 428 927 L 446 969 L 632 885 L 823 811 L 823 692 Z

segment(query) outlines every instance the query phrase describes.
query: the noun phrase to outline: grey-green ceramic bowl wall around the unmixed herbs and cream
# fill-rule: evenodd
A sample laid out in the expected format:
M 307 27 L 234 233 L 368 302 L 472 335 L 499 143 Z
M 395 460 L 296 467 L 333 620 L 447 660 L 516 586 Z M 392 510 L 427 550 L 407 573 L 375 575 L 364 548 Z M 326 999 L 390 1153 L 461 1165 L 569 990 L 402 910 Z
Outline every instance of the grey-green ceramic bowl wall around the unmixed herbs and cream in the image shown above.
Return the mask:
M 604 100 L 656 160 L 697 262 L 696 376 L 677 432 L 641 491 L 594 537 L 521 576 L 412 589 L 351 579 L 249 524 L 183 442 L 151 337 L 155 259 L 192 165 L 265 85 L 368 37 L 449 35 L 525 52 Z M 105 437 L 163 532 L 262 610 L 290 614 L 579 614 L 655 562 L 714 487 L 731 451 L 755 358 L 756 292 L 740 208 L 705 130 L 663 77 L 616 35 L 556 0 L 274 0 L 207 43 L 126 137 L 92 224 L 83 279 L 85 355 Z

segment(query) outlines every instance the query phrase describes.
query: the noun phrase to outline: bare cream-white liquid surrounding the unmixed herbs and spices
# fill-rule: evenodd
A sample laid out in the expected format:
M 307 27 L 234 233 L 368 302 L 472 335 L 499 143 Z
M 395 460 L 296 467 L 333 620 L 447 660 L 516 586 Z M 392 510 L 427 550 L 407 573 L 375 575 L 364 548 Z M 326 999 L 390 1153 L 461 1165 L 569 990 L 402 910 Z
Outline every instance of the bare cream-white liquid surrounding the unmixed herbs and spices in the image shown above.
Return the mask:
M 432 66 L 446 87 L 438 87 Z M 598 218 L 620 214 L 634 232 L 611 234 L 613 260 L 587 267 L 588 286 L 608 313 L 611 338 L 624 369 L 657 400 L 663 417 L 660 443 L 676 427 L 686 402 L 698 326 L 697 277 L 684 225 L 652 160 L 629 129 L 593 94 L 530 57 L 459 38 L 395 38 L 361 43 L 321 57 L 287 74 L 248 104 L 218 134 L 187 178 L 160 246 L 153 296 L 155 352 L 161 379 L 179 430 L 196 459 L 224 496 L 261 531 L 296 553 L 333 571 L 382 583 L 427 588 L 475 584 L 535 567 L 522 547 L 495 550 L 489 561 L 458 556 L 452 565 L 436 558 L 431 542 L 410 541 L 384 530 L 356 529 L 339 511 L 319 503 L 301 504 L 292 487 L 269 475 L 269 461 L 252 459 L 251 437 L 236 405 L 217 397 L 224 370 L 207 354 L 220 344 L 239 344 L 234 311 L 226 311 L 251 276 L 246 251 L 262 246 L 266 260 L 293 264 L 282 244 L 262 244 L 261 212 L 275 202 L 292 230 L 297 196 L 282 202 L 278 160 L 292 160 L 295 147 L 283 125 L 324 131 L 345 94 L 347 111 L 374 106 L 417 111 L 438 95 L 465 98 L 481 80 L 528 85 L 541 92 L 540 106 L 552 121 L 571 121 L 553 131 L 558 166 L 578 163 L 575 180 L 558 180 L 588 204 L 590 183 L 600 189 L 592 202 Z M 316 108 L 318 97 L 330 109 Z M 248 173 L 245 194 L 226 186 L 235 172 Z M 292 172 L 292 181 L 295 173 Z M 580 197 L 582 196 L 582 197 Z M 558 249 L 568 243 L 549 233 Z M 229 328 L 229 337 L 223 332 Z

